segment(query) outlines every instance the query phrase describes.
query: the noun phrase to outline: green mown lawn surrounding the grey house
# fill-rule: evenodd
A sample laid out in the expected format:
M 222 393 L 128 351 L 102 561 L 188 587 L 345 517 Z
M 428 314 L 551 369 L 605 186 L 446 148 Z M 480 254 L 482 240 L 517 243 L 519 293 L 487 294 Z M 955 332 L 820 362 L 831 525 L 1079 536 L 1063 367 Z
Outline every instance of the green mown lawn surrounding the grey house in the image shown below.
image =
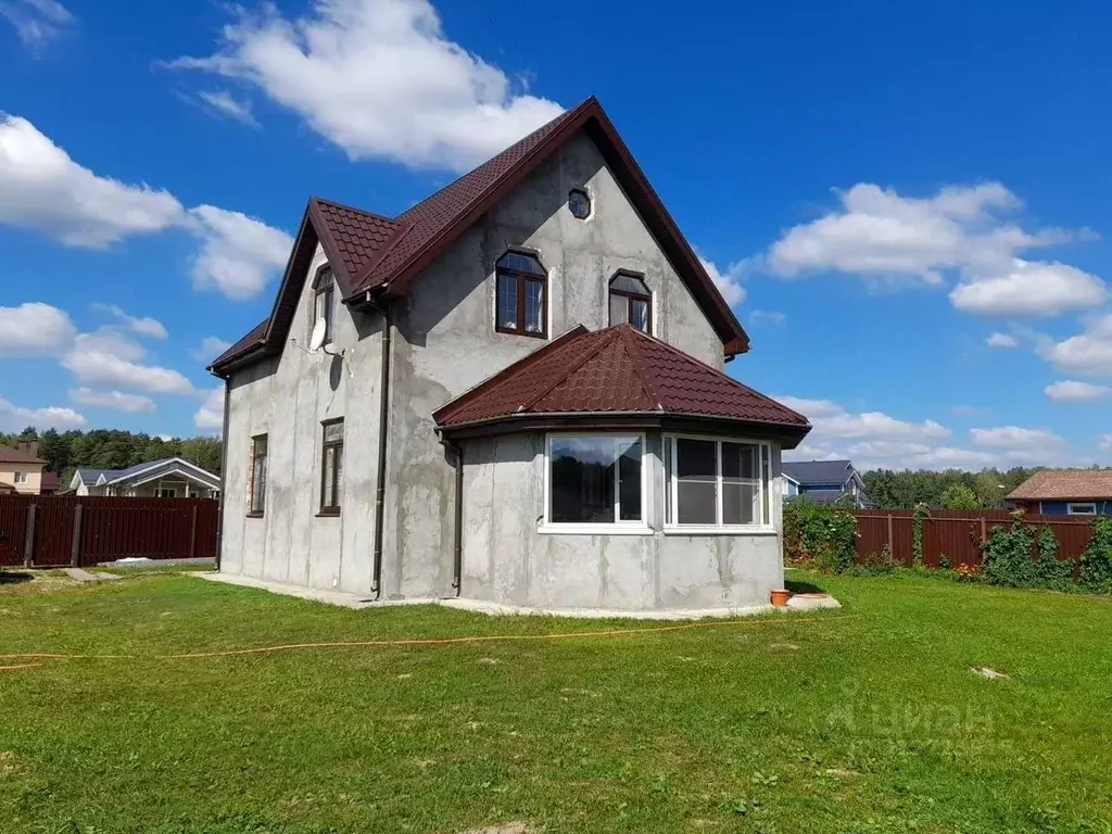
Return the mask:
M 0 672 L 0 830 L 1112 828 L 1112 605 L 795 578 L 845 608 L 188 661 L 153 655 L 659 624 L 351 612 L 169 575 L 4 586 L 0 651 L 133 657 Z

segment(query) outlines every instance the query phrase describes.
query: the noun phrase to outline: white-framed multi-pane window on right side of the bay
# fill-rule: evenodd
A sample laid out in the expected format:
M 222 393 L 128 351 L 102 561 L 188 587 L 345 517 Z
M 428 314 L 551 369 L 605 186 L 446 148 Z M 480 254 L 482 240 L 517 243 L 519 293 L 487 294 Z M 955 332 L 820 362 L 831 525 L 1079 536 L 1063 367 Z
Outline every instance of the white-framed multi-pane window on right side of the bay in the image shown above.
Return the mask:
M 763 443 L 666 436 L 665 525 L 770 526 L 771 458 Z

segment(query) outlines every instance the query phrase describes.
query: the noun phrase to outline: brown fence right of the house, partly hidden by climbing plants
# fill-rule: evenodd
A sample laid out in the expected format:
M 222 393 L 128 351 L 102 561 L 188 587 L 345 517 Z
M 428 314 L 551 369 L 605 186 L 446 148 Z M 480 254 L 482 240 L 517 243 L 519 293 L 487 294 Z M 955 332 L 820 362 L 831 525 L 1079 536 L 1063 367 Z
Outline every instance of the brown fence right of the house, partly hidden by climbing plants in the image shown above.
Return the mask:
M 914 564 L 914 513 L 858 509 L 854 515 L 858 557 L 880 553 L 887 545 L 896 562 Z M 1078 517 L 1025 515 L 1023 520 L 1032 527 L 1050 527 L 1054 532 L 1060 559 L 1081 556 L 1092 536 L 1090 520 Z M 993 527 L 1011 523 L 1011 513 L 1002 509 L 932 509 L 930 517 L 923 519 L 923 564 L 939 567 L 945 558 L 951 567 L 980 565 L 981 543 Z

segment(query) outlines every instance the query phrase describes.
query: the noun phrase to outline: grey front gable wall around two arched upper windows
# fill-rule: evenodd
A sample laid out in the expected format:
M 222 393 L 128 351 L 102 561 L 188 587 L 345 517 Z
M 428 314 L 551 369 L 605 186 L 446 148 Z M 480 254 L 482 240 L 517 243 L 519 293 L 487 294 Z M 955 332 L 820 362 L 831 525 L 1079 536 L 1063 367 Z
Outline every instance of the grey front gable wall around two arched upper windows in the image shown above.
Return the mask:
M 567 209 L 573 188 L 592 197 L 587 220 Z M 628 269 L 653 292 L 654 334 L 724 365 L 722 340 L 598 149 L 586 135 L 569 141 L 419 276 L 397 311 L 385 596 L 451 593 L 454 476 L 431 413 L 545 344 L 494 329 L 495 261 L 509 248 L 535 252 L 548 271 L 549 338 L 606 327 L 609 279 Z

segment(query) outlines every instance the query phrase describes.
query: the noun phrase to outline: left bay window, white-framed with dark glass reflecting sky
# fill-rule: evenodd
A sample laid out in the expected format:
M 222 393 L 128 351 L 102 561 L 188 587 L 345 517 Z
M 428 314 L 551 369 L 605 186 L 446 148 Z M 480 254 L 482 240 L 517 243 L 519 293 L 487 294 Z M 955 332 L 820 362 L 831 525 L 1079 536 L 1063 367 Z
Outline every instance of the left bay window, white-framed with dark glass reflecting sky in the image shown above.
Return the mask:
M 549 435 L 545 523 L 645 527 L 643 435 Z

